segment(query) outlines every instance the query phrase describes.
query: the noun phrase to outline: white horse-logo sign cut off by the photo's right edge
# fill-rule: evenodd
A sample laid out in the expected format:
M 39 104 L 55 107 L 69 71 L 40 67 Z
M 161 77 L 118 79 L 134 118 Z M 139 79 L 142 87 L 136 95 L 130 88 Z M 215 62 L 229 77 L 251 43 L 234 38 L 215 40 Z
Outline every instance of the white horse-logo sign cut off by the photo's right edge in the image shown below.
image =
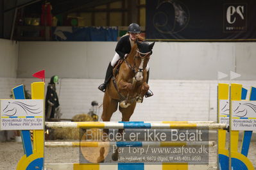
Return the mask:
M 256 101 L 232 101 L 232 130 L 256 130 Z

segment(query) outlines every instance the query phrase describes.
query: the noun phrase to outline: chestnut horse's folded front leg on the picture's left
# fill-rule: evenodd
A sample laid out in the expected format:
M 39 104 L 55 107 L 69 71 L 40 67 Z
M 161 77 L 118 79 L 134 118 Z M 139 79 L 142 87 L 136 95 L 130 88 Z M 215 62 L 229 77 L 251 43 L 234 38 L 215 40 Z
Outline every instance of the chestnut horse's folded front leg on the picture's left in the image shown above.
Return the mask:
M 123 108 L 128 107 L 128 106 L 130 105 L 130 104 L 128 103 L 128 97 L 130 96 L 130 94 L 131 94 L 132 91 L 133 91 L 133 84 L 121 80 L 121 81 L 119 82 L 117 88 L 118 88 L 118 91 L 119 91 L 119 92 L 123 92 L 123 91 L 124 91 L 124 92 L 127 93 L 126 100 L 120 102 L 120 107 L 123 107 Z

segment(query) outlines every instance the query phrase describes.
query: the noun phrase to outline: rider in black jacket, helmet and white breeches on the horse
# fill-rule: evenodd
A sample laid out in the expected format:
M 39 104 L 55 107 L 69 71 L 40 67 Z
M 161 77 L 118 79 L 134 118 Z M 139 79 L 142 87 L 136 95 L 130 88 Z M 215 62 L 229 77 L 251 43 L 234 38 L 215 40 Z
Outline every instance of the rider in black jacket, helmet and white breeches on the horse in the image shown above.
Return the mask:
M 136 23 L 132 23 L 128 27 L 128 35 L 122 36 L 121 39 L 119 40 L 119 42 L 117 42 L 117 45 L 115 47 L 115 56 L 108 65 L 107 73 L 105 76 L 105 81 L 103 84 L 99 85 L 99 87 L 98 87 L 99 90 L 105 92 L 105 89 L 107 88 L 107 84 L 112 77 L 112 72 L 113 72 L 115 63 L 117 63 L 117 61 L 120 58 L 125 58 L 130 53 L 139 33 L 141 33 L 141 27 Z M 148 75 L 146 82 L 148 83 L 148 78 L 149 78 L 149 66 L 148 65 L 146 67 L 146 71 L 147 71 L 147 75 Z M 153 93 L 151 90 L 148 90 L 145 97 L 151 97 L 151 96 L 153 96 Z

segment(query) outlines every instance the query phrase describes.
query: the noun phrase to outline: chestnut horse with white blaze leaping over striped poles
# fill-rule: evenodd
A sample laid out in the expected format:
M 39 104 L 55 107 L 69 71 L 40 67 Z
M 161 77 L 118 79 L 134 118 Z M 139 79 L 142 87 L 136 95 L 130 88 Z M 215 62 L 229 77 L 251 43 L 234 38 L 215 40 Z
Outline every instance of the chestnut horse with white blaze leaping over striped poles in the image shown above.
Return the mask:
M 136 103 L 141 103 L 144 95 L 149 89 L 146 83 L 149 57 L 155 42 L 149 44 L 147 42 L 135 41 L 130 54 L 124 58 L 123 63 L 119 68 L 119 72 L 114 68 L 114 76 L 108 83 L 105 95 L 103 98 L 103 112 L 101 115 L 102 121 L 110 121 L 112 114 L 117 111 L 122 113 L 122 121 L 129 121 L 133 114 Z M 108 134 L 108 129 L 103 132 Z M 123 129 L 119 129 L 122 133 Z M 105 148 L 100 149 L 98 162 L 104 161 Z M 113 160 L 117 160 L 117 150 L 112 155 Z

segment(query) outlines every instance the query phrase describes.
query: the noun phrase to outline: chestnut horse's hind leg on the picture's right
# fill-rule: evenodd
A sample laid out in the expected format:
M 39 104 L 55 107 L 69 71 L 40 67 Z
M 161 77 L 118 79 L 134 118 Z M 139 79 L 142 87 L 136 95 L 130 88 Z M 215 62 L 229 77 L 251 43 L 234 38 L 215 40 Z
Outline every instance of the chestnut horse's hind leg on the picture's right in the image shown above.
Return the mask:
M 133 114 L 133 111 L 135 109 L 136 106 L 136 102 L 133 102 L 133 104 L 131 104 L 129 107 L 127 108 L 123 108 L 123 107 L 119 107 L 119 111 L 122 112 L 122 121 L 130 121 L 130 118 Z M 119 128 L 118 133 L 120 135 L 123 135 L 123 128 Z M 118 160 L 118 149 L 119 147 L 117 147 L 115 149 L 115 152 L 112 154 L 112 160 Z

